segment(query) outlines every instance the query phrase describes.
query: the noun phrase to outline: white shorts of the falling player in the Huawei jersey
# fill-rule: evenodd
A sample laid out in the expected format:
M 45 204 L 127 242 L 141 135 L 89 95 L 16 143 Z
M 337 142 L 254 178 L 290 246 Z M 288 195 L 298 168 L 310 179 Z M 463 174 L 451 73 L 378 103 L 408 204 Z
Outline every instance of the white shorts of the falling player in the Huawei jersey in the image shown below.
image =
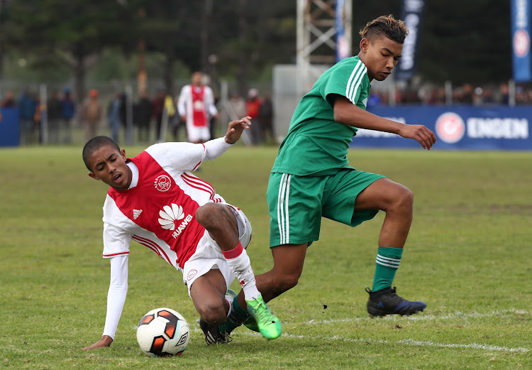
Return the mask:
M 236 223 L 238 224 L 238 239 L 243 248 L 247 248 L 251 240 L 251 224 L 248 217 L 245 217 L 244 212 L 233 205 L 229 205 L 228 203 L 221 204 L 229 207 L 235 215 Z M 205 275 L 214 268 L 220 270 L 223 278 L 226 280 L 226 285 L 229 288 L 229 285 L 235 280 L 235 274 L 227 264 L 226 257 L 223 256 L 216 241 L 214 241 L 214 239 L 211 238 L 211 235 L 209 235 L 209 232 L 205 230 L 204 235 L 199 239 L 196 251 L 183 266 L 183 281 L 189 288 L 189 295 L 190 287 L 196 278 Z

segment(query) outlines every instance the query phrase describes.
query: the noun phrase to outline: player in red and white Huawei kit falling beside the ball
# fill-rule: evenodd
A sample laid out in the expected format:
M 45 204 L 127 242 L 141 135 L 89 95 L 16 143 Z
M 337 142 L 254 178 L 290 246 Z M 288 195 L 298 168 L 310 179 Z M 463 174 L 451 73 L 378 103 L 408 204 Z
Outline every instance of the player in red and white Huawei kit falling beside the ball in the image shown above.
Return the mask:
M 111 187 L 103 218 L 104 258 L 111 262 L 111 283 L 104 334 L 84 349 L 109 347 L 113 342 L 128 290 L 131 240 L 182 271 L 207 344 L 228 342 L 230 338 L 217 325 L 234 310 L 245 308 L 264 337 L 279 337 L 281 323 L 262 300 L 245 251 L 251 239 L 247 217 L 190 172 L 238 141 L 249 128 L 249 119 L 231 121 L 223 138 L 199 144 L 157 143 L 134 158 L 127 158 L 126 151 L 106 136 L 85 144 L 83 160 L 89 176 Z M 235 277 L 245 293 L 240 303 L 228 290 Z

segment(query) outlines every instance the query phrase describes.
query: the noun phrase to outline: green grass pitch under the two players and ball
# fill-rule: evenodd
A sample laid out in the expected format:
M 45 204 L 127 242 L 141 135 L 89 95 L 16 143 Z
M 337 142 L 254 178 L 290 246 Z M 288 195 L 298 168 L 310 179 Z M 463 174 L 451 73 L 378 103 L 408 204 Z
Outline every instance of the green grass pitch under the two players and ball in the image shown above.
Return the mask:
M 272 266 L 265 192 L 276 152 L 235 147 L 199 173 L 248 215 L 256 273 Z M 271 342 L 240 327 L 207 347 L 181 273 L 133 243 L 116 340 L 84 352 L 104 328 L 107 188 L 87 176 L 80 147 L 0 149 L 0 368 L 532 369 L 532 153 L 355 150 L 350 161 L 414 192 L 394 285 L 425 312 L 367 316 L 381 212 L 355 229 L 323 220 L 299 285 L 270 303 L 284 330 Z M 192 327 L 181 357 L 150 358 L 136 342 L 140 317 L 162 306 Z

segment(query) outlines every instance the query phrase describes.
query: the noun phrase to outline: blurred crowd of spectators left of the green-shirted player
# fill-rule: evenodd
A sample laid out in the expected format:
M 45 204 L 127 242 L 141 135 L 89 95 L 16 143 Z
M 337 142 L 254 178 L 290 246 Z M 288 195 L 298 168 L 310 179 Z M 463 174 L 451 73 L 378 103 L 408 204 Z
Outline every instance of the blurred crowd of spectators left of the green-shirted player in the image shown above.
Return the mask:
M 133 140 L 137 143 L 160 141 L 163 119 L 167 119 L 170 140 L 187 140 L 184 122 L 177 114 L 177 97 L 172 97 L 164 88 L 157 89 L 153 97 L 149 97 L 145 90 L 138 95 L 138 99 L 133 99 L 126 92 L 101 94 L 92 88 L 86 97 L 76 101 L 70 87 L 65 87 L 52 90 L 49 98 L 41 102 L 40 94 L 29 87 L 24 88 L 18 98 L 13 91 L 6 91 L 0 99 L 0 123 L 2 110 L 18 110 L 21 145 L 69 144 L 74 141 L 74 131 L 82 132 L 77 141 L 105 134 L 121 142 L 126 138 L 128 120 L 131 120 L 135 132 Z M 259 145 L 273 140 L 269 94 L 261 97 L 257 89 L 250 89 L 247 97 L 233 94 L 229 104 L 234 112 L 238 111 L 239 118 L 252 117 L 250 143 Z M 211 137 L 218 135 L 216 124 L 216 117 L 211 117 Z M 184 134 L 180 134 L 183 131 Z

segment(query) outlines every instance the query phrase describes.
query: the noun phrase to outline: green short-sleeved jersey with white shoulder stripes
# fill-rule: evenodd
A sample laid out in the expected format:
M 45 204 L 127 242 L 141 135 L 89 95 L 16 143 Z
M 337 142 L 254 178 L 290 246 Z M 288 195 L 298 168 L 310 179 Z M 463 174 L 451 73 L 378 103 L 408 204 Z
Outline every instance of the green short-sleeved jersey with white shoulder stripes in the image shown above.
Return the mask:
M 326 70 L 297 105 L 272 173 L 328 175 L 351 168 L 348 149 L 357 129 L 334 121 L 333 94 L 366 109 L 370 87 L 367 68 L 358 56 Z

